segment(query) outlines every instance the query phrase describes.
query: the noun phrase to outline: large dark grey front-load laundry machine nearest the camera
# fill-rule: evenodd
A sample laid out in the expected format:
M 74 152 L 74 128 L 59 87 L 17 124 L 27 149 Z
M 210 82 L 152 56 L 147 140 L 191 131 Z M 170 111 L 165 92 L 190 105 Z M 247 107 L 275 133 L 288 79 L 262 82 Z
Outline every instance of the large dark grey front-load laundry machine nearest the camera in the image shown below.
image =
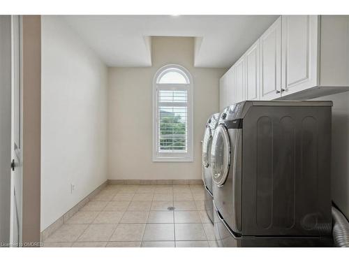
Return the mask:
M 331 101 L 225 108 L 211 146 L 221 247 L 332 245 Z

